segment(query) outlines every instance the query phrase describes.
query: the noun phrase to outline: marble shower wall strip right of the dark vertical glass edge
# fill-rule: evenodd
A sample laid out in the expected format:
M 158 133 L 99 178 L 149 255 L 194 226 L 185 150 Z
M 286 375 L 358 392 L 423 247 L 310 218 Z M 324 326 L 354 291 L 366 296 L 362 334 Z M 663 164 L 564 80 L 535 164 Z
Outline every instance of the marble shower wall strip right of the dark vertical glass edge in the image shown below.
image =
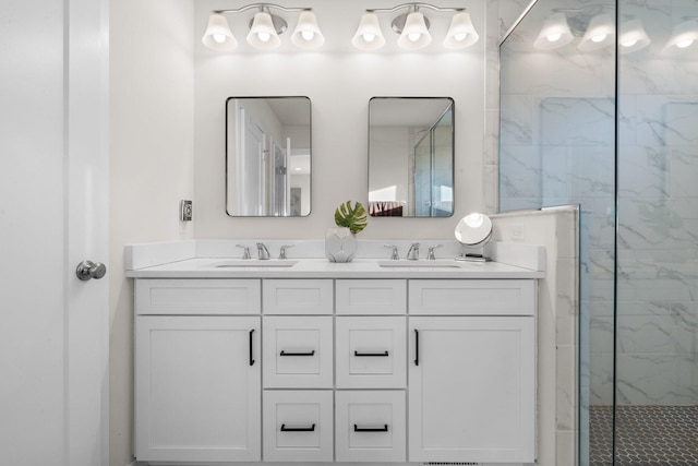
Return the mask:
M 698 44 L 662 52 L 698 0 L 623 1 L 650 47 L 621 56 L 619 404 L 698 403 Z M 607 318 L 604 326 L 607 326 Z

